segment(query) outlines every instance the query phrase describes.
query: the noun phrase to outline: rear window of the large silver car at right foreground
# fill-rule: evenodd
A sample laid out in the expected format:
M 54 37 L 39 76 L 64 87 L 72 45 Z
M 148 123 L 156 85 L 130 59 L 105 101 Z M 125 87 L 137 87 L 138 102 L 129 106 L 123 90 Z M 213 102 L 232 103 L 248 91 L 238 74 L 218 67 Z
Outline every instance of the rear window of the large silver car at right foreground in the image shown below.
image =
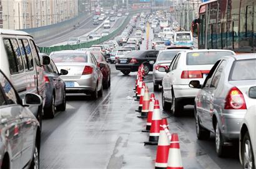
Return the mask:
M 256 80 L 256 59 L 235 61 L 230 80 Z

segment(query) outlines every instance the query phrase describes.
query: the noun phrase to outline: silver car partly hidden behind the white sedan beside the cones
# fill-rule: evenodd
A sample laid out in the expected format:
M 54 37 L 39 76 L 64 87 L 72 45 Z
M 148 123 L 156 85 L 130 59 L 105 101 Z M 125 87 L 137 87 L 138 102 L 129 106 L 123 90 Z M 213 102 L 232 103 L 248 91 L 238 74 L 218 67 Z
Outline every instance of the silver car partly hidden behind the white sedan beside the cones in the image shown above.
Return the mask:
M 159 89 L 159 85 L 162 85 L 162 79 L 166 74 L 166 70 L 168 70 L 172 59 L 180 51 L 185 51 L 185 49 L 170 49 L 159 51 L 157 60 L 153 66 L 154 91 L 157 91 Z

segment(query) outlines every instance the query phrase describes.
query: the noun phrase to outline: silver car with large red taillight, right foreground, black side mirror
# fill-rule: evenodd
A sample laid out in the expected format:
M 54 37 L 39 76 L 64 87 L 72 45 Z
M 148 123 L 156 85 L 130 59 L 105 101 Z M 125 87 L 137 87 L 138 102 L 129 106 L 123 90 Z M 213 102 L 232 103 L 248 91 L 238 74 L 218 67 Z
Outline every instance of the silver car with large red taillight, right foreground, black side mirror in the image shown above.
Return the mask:
M 190 81 L 190 87 L 201 88 L 195 98 L 197 137 L 208 139 L 215 133 L 219 156 L 225 145 L 238 143 L 240 126 L 247 108 L 255 105 L 248 91 L 256 84 L 256 55 L 223 57 L 210 70 L 204 85 Z

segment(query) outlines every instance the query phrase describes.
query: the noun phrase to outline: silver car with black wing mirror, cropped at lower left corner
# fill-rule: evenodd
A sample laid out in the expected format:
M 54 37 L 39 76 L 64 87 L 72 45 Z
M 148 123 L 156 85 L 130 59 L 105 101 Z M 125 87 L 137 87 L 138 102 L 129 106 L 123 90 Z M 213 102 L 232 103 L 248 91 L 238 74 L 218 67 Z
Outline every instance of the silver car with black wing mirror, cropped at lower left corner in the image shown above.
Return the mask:
M 28 106 L 40 106 L 41 96 L 19 98 L 0 70 L 1 168 L 39 168 L 40 126 Z

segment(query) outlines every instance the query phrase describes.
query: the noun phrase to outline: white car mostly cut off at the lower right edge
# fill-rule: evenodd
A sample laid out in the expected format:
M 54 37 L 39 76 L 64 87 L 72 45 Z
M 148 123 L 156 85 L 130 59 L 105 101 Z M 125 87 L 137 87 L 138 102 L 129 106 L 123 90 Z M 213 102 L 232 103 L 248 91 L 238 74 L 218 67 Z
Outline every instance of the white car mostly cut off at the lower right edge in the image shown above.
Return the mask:
M 241 124 L 239 157 L 243 168 L 255 168 L 256 166 L 256 85 L 251 87 L 248 97 L 254 99 L 254 106 L 247 107 L 244 120 Z M 247 98 L 247 97 L 246 97 Z

